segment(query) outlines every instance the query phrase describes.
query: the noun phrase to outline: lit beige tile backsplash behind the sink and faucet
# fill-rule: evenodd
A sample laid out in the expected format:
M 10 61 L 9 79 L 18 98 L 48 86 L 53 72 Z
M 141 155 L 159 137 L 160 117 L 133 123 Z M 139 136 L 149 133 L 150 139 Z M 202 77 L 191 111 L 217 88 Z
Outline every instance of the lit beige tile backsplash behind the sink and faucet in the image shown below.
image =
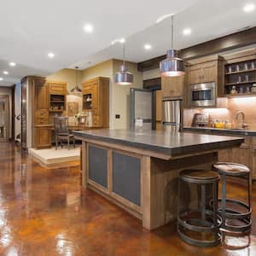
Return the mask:
M 183 125 L 191 126 L 195 113 L 208 113 L 212 119 L 229 119 L 233 127 L 241 125 L 241 116 L 236 122 L 236 112 L 245 114 L 245 123 L 249 130 L 256 130 L 256 97 L 240 97 L 228 99 L 228 108 L 184 109 Z

